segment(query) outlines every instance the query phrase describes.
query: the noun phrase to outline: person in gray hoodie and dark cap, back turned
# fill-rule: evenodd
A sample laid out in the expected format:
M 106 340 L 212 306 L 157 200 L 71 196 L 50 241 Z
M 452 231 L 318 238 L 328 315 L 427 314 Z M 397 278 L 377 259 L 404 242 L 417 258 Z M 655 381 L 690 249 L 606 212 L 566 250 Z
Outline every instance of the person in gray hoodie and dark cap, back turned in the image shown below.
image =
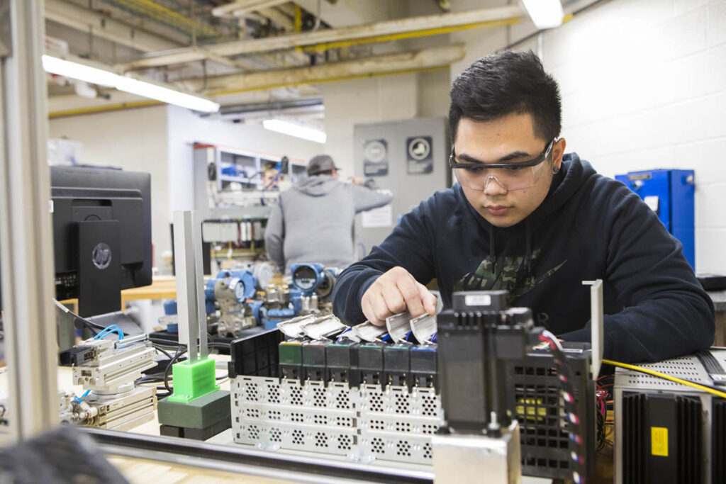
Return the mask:
M 356 213 L 391 202 L 391 195 L 338 181 L 328 155 L 312 157 L 308 177 L 280 194 L 265 230 L 267 257 L 282 274 L 295 263 L 322 263 L 346 268 L 356 259 L 353 222 Z

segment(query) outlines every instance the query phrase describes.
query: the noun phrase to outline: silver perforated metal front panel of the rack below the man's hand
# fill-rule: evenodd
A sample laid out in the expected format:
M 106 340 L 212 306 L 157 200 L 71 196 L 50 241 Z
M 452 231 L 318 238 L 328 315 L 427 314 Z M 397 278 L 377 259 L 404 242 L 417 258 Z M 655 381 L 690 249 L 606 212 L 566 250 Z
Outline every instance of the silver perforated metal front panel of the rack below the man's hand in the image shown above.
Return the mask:
M 431 464 L 431 435 L 442 421 L 439 396 L 430 388 L 326 387 L 248 376 L 232 383 L 234 441 L 268 450 Z

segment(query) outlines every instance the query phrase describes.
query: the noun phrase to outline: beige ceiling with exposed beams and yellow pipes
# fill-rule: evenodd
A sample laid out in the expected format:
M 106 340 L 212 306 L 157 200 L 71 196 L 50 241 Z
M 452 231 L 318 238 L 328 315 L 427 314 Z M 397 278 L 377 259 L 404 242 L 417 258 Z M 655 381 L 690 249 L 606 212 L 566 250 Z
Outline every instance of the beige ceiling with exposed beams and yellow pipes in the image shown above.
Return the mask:
M 506 25 L 524 15 L 505 0 L 481 2 L 495 7 L 464 15 L 446 12 L 441 7 L 446 2 L 440 0 L 45 3 L 46 33 L 56 41 L 50 43 L 52 49 L 60 45 L 68 54 L 116 72 L 133 70 L 234 105 L 319 97 L 316 83 L 333 78 L 449 65 L 462 57 L 463 47 L 449 45 L 448 32 Z M 417 49 L 416 37 L 430 35 L 441 36 L 439 47 Z M 73 93 L 89 90 L 72 84 L 53 80 L 52 111 L 73 111 L 73 98 L 81 111 L 114 104 L 104 99 L 108 91 L 96 89 L 102 97 L 84 99 Z M 135 97 L 117 94 L 112 98 L 134 102 Z

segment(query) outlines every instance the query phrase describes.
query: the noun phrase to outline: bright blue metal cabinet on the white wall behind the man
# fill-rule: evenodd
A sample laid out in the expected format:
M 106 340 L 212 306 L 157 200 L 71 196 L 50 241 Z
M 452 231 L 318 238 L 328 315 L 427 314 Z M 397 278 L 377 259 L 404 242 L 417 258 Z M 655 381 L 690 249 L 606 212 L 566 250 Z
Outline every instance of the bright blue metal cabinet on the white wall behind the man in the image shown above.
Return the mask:
M 683 245 L 683 256 L 696 268 L 695 226 L 693 222 L 693 170 L 632 171 L 616 175 L 645 200 L 668 231 Z

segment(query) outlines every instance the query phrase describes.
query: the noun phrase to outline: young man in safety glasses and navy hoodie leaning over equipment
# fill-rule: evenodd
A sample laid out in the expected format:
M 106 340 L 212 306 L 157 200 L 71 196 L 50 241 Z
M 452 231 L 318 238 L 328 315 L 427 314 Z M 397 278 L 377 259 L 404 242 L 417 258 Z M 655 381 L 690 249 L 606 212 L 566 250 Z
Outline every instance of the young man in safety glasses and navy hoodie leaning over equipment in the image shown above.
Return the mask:
M 423 284 L 510 292 L 563 340 L 590 340 L 590 290 L 603 279 L 605 357 L 658 361 L 714 338 L 711 300 L 681 245 L 636 194 L 565 154 L 560 94 L 531 52 L 498 52 L 454 81 L 449 166 L 457 184 L 422 202 L 338 279 L 350 324 L 435 311 Z M 613 141 L 614 142 L 614 141 Z

